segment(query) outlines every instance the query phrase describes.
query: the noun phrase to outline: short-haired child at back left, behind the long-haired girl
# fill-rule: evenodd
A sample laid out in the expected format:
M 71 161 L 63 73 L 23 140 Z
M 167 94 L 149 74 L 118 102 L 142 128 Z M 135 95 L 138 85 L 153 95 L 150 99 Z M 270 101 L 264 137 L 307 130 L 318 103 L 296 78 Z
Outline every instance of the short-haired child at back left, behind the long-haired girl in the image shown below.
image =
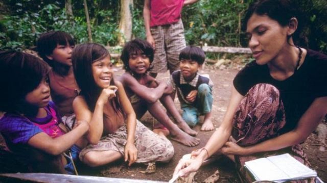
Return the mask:
M 74 46 L 72 36 L 61 31 L 44 33 L 37 40 L 39 56 L 52 67 L 49 73 L 51 98 L 69 129 L 75 123 L 72 104 L 79 93 L 72 67 Z

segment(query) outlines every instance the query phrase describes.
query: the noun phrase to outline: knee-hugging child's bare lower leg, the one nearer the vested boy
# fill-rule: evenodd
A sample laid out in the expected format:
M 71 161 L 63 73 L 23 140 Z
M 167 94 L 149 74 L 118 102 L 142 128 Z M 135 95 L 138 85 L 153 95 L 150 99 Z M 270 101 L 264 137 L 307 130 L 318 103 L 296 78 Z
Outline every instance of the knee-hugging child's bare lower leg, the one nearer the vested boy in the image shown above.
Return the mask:
M 184 121 L 182 116 L 179 114 L 173 99 L 169 95 L 163 95 L 160 98 L 160 101 L 165 106 L 167 111 L 176 120 L 176 124 L 179 128 L 181 128 L 184 132 L 186 132 L 187 134 L 192 135 L 192 136 L 195 136 L 198 134 L 195 130 L 191 129 L 191 127 L 188 124 L 186 124 L 186 122 Z

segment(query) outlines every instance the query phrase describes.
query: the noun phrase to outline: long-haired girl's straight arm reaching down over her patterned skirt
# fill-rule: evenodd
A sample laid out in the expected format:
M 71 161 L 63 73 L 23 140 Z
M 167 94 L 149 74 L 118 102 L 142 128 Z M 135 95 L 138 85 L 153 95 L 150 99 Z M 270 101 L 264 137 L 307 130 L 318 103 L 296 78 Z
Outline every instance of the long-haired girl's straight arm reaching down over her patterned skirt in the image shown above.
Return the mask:
M 137 149 L 134 145 L 135 128 L 136 128 L 136 115 L 133 110 L 122 83 L 116 81 L 115 85 L 118 87 L 118 97 L 127 116 L 127 143 L 125 145 L 125 162 L 128 160 L 128 166 L 132 165 L 137 160 Z

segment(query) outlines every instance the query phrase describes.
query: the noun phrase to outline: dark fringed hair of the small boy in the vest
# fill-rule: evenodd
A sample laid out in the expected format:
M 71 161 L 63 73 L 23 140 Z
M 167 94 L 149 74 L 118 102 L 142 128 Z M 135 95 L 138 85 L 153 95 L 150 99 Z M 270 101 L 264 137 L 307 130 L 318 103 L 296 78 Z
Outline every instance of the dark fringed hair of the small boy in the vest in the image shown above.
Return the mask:
M 205 60 L 204 51 L 196 46 L 186 46 L 180 51 L 179 60 L 194 60 L 202 65 Z

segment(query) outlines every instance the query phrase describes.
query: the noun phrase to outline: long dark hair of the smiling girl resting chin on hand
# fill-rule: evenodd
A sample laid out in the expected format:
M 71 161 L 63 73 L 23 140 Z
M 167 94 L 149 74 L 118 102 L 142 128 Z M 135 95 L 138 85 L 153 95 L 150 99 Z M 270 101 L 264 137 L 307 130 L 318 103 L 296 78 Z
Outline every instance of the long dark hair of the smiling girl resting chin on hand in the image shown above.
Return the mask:
M 82 95 L 91 111 L 94 111 L 96 102 L 102 92 L 92 73 L 92 63 L 110 57 L 108 50 L 96 43 L 84 43 L 77 45 L 72 53 L 73 70 L 77 85 L 81 89 Z M 110 85 L 115 85 L 113 78 Z M 121 111 L 121 106 L 118 97 L 111 100 L 114 110 Z

